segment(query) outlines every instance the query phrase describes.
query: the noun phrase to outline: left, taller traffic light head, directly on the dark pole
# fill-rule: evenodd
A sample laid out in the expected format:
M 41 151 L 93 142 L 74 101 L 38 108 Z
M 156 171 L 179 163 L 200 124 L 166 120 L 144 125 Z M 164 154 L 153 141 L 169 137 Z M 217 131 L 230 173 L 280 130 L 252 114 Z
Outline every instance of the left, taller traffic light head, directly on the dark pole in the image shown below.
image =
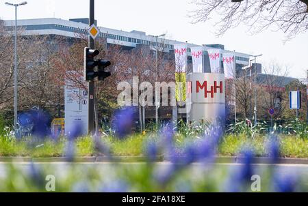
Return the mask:
M 99 50 L 84 48 L 84 80 L 92 81 L 95 78 L 95 67 L 97 67 L 97 61 L 94 57 L 99 55 Z

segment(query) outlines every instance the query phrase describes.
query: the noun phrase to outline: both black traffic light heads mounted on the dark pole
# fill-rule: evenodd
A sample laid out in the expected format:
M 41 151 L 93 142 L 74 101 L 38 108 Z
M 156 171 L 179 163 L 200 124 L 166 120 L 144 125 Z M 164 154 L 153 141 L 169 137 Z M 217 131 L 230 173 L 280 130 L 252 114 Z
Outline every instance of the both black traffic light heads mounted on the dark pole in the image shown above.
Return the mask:
M 99 50 L 90 49 L 88 47 L 84 48 L 84 80 L 92 81 L 95 77 L 99 80 L 105 80 L 109 77 L 110 72 L 105 72 L 105 68 L 111 65 L 110 61 L 98 59 L 95 60 L 94 57 L 99 55 Z M 95 68 L 98 66 L 98 70 Z

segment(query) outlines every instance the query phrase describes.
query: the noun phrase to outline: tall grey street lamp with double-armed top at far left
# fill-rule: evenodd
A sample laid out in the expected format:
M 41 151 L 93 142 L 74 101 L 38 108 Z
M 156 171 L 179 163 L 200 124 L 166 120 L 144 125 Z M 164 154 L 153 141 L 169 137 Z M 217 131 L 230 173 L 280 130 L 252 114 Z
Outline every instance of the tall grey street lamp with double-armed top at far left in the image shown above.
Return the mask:
M 18 113 L 18 104 L 17 104 L 17 93 L 18 93 L 18 67 L 17 67 L 17 7 L 20 5 L 26 5 L 27 1 L 22 3 L 8 3 L 5 2 L 5 5 L 12 5 L 15 7 L 15 39 L 14 39 L 14 59 L 15 59 L 15 68 L 14 68 L 14 130 L 16 132 L 17 128 L 17 113 Z

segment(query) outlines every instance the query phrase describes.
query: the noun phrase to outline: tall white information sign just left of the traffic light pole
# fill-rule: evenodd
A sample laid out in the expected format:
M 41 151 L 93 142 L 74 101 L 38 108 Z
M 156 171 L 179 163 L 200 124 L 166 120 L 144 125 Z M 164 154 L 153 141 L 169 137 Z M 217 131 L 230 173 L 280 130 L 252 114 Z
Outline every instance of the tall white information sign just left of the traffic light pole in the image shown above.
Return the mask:
M 65 134 L 81 126 L 82 134 L 88 134 L 88 93 L 66 80 L 65 85 Z M 80 128 L 78 128 L 80 129 Z

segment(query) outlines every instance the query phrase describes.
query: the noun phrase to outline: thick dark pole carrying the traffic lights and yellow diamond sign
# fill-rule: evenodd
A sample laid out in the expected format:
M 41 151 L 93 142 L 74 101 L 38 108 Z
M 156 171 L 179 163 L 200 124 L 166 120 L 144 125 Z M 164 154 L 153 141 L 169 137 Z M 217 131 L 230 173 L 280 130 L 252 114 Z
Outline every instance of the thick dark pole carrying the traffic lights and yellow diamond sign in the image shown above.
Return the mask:
M 90 0 L 89 26 L 94 24 L 94 0 Z M 88 46 L 94 48 L 94 40 L 89 35 Z M 88 82 L 88 134 L 94 132 L 94 81 Z

